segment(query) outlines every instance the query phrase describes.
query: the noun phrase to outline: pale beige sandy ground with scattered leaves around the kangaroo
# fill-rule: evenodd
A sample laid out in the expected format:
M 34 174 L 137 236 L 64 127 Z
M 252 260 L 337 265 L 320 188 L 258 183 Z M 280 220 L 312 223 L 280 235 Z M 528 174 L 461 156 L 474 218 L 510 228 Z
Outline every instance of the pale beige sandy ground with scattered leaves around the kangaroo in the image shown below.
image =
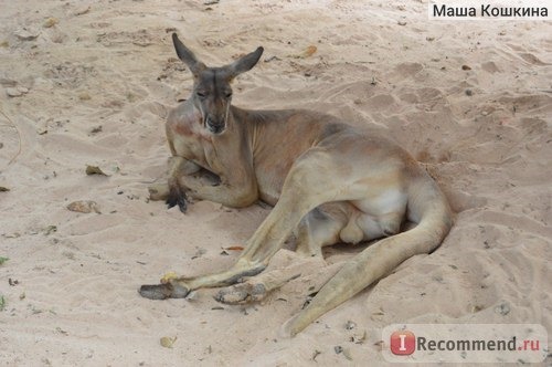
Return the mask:
M 426 7 L 1 1 L 0 364 L 379 365 L 393 323 L 552 329 L 552 25 L 429 21 Z M 183 216 L 149 202 L 169 156 L 164 116 L 191 87 L 172 31 L 212 65 L 265 48 L 235 82 L 238 106 L 323 111 L 395 138 L 455 210 L 442 247 L 294 339 L 279 328 L 323 269 L 246 307 L 221 307 L 214 290 L 141 298 L 138 286 L 167 271 L 229 266 L 237 253 L 222 248 L 244 243 L 268 212 L 199 202 Z M 76 200 L 99 212 L 67 210 Z M 363 248 L 331 248 L 327 262 Z

